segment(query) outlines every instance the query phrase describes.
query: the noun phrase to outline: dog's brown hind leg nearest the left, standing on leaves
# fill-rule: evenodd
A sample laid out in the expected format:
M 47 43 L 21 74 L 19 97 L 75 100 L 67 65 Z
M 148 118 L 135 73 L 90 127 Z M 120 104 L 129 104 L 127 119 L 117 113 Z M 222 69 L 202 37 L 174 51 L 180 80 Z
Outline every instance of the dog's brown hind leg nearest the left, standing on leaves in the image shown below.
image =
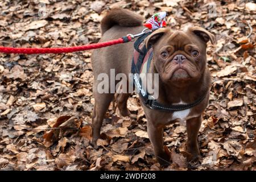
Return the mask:
M 92 114 L 92 146 L 97 148 L 97 139 L 100 138 L 100 131 L 102 121 L 105 117 L 106 111 L 109 108 L 110 102 L 114 98 L 113 93 L 103 93 L 100 94 L 96 89 L 93 89 L 93 95 L 95 99 L 94 109 Z

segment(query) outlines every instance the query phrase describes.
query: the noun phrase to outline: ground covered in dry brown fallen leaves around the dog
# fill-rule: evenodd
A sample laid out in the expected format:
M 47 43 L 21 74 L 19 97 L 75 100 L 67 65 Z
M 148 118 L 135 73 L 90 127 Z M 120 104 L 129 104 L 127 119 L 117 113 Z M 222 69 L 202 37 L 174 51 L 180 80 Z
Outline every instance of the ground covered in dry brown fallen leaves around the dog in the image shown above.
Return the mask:
M 200 163 L 186 162 L 185 123 L 164 130 L 172 162 L 161 168 L 146 133 L 138 96 L 137 121 L 111 105 L 94 150 L 90 51 L 59 55 L 0 54 L 1 170 L 255 170 L 256 4 L 253 1 L 0 1 L 0 46 L 65 47 L 95 43 L 113 7 L 145 18 L 167 11 L 174 30 L 201 26 L 216 35 L 208 46 L 212 73 L 203 115 Z M 48 130 L 50 127 L 62 128 Z M 80 130 L 76 130 L 79 128 Z

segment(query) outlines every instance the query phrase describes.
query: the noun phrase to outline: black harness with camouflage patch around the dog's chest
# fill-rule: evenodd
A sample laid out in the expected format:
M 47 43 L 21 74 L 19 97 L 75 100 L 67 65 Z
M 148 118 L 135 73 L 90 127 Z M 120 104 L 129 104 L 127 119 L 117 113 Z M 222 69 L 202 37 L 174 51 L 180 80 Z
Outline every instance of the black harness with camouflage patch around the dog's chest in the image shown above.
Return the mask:
M 160 104 L 158 101 L 152 98 L 150 94 L 148 94 L 147 89 L 145 89 L 146 86 L 143 87 L 142 80 L 141 80 L 141 77 L 139 77 L 139 74 L 141 74 L 142 67 L 143 69 L 147 69 L 148 71 L 149 65 L 153 57 L 153 51 L 152 51 L 152 47 L 149 47 L 147 49 L 146 46 L 142 44 L 142 42 L 150 34 L 151 32 L 147 32 L 146 34 L 140 36 L 135 41 L 134 56 L 131 64 L 131 73 L 133 73 L 133 80 L 134 80 L 133 82 L 139 92 L 139 97 L 141 97 L 143 104 L 150 109 L 156 109 L 156 110 L 167 111 L 167 112 L 185 110 L 199 104 L 201 101 L 204 100 L 207 93 L 204 94 L 203 97 L 193 102 L 192 104 L 164 105 L 164 104 Z

